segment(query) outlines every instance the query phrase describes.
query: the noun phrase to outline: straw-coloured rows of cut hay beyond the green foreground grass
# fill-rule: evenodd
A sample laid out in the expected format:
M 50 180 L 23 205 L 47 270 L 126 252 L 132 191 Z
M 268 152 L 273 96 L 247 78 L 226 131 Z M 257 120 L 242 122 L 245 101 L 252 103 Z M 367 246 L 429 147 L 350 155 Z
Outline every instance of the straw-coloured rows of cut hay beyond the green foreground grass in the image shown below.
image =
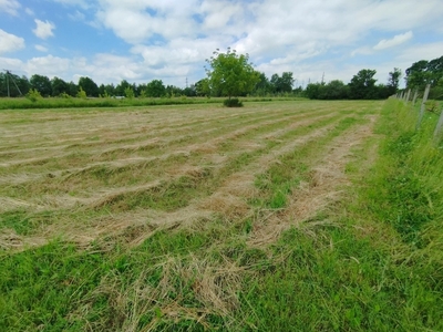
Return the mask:
M 295 173 L 299 184 L 280 195 L 289 200 L 285 222 L 301 221 L 334 196 L 346 154 L 368 134 L 373 108 L 373 102 L 280 102 L 2 112 L 0 243 L 87 245 L 127 228 L 136 229 L 127 240 L 140 243 L 158 227 L 246 218 L 272 205 L 257 178 L 309 145 L 296 162 L 312 167 L 313 184 Z M 347 121 L 353 123 L 337 129 Z M 251 241 L 269 236 L 260 229 Z

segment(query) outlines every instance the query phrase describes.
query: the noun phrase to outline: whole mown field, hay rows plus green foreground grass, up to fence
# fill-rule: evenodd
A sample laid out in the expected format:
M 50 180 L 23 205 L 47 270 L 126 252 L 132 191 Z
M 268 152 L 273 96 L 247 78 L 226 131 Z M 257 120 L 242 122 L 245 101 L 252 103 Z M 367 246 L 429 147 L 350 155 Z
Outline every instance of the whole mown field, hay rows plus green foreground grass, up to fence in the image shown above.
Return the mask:
M 442 330 L 441 196 L 418 180 L 402 224 L 399 193 L 415 183 L 391 177 L 420 137 L 396 112 L 394 101 L 1 111 L 0 326 Z M 412 147 L 384 148 L 399 137 Z

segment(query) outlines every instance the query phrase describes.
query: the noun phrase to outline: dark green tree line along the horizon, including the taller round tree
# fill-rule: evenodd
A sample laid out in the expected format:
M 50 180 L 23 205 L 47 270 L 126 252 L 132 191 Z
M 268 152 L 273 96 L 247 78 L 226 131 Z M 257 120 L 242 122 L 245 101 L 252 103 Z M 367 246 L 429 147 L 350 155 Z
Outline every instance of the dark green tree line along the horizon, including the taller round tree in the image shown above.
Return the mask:
M 60 77 L 49 79 L 34 74 L 29 80 L 27 76 L 14 75 L 10 72 L 0 73 L 0 96 L 17 97 L 28 94 L 31 90 L 43 97 L 165 97 L 165 96 L 306 96 L 312 100 L 377 100 L 387 98 L 399 90 L 402 72 L 393 69 L 389 73 L 385 84 L 377 83 L 375 70 L 363 69 L 346 84 L 340 80 L 328 83 L 309 83 L 306 89 L 295 86 L 296 80 L 292 72 L 281 75 L 255 71 L 248 62 L 248 55 L 237 54 L 236 51 L 226 53 L 214 52 L 207 60 L 209 69 L 207 77 L 190 84 L 185 89 L 165 85 L 162 80 L 152 80 L 148 83 L 135 84 L 126 80 L 119 84 L 97 85 L 91 77 L 82 76 L 78 83 L 65 82 Z M 424 90 L 426 84 L 432 85 L 433 98 L 443 97 L 443 56 L 431 61 L 421 60 L 406 69 L 406 89 Z M 219 84 L 215 84 L 219 82 Z M 222 82 L 222 83 L 220 83 Z

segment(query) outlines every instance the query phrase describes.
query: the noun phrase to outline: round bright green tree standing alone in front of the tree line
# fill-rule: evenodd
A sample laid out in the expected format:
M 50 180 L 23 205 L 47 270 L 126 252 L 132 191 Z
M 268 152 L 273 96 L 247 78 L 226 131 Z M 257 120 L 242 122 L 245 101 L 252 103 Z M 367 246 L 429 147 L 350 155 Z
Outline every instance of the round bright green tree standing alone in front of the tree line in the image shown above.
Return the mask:
M 227 96 L 243 96 L 250 93 L 259 81 L 259 74 L 249 63 L 249 55 L 237 54 L 228 48 L 226 53 L 219 50 L 206 60 L 208 85 L 213 94 Z

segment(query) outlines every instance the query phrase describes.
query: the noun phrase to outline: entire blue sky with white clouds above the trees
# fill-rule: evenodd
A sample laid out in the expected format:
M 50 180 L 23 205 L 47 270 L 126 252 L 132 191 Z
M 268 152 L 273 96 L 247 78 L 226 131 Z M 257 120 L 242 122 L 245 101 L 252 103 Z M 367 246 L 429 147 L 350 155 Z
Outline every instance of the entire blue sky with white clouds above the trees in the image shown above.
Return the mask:
M 443 55 L 442 18 L 442 0 L 0 0 L 0 70 L 186 87 L 231 48 L 296 86 L 362 69 L 387 83 Z

